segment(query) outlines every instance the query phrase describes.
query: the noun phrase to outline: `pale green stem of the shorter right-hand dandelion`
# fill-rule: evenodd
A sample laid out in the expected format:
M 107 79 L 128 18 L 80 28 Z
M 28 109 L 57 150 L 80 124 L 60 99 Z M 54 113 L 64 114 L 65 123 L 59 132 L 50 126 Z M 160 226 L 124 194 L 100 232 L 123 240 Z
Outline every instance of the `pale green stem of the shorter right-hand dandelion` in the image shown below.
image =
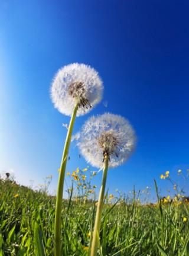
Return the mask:
M 90 250 L 90 256 L 97 255 L 97 249 L 99 244 L 99 233 L 100 233 L 100 219 L 102 215 L 103 209 L 103 202 L 105 197 L 105 187 L 106 187 L 106 178 L 107 178 L 107 169 L 108 169 L 109 158 L 105 156 L 105 165 L 103 169 L 103 177 L 102 177 L 102 185 L 100 187 L 99 193 L 99 201 L 97 203 L 97 210 L 96 210 L 96 219 L 94 223 L 94 232 L 93 232 L 93 240 L 92 240 L 92 247 Z

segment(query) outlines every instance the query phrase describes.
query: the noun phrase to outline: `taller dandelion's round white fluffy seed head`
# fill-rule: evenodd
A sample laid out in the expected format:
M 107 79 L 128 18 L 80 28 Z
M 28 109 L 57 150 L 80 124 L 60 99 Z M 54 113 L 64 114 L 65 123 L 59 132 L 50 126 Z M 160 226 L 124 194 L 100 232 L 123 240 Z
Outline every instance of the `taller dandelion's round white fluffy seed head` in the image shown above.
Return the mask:
M 100 102 L 103 94 L 102 80 L 90 66 L 73 63 L 61 68 L 51 86 L 54 106 L 62 114 L 71 116 L 78 104 L 77 116 L 82 116 Z

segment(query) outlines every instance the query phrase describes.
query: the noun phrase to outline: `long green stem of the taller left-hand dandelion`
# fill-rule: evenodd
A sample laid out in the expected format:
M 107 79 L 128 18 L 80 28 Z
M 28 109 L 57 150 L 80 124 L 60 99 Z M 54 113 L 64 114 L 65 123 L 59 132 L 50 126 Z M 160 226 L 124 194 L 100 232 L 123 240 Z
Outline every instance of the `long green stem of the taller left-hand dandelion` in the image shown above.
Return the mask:
M 74 121 L 76 119 L 78 105 L 73 110 L 69 129 L 67 131 L 66 142 L 64 144 L 63 156 L 61 159 L 60 174 L 58 178 L 57 187 L 57 201 L 56 201 L 56 211 L 55 211 L 55 222 L 54 222 L 54 256 L 61 255 L 61 206 L 63 201 L 63 188 L 64 188 L 64 177 L 66 171 L 66 163 L 69 153 L 69 146 L 71 141 L 71 134 L 73 131 Z

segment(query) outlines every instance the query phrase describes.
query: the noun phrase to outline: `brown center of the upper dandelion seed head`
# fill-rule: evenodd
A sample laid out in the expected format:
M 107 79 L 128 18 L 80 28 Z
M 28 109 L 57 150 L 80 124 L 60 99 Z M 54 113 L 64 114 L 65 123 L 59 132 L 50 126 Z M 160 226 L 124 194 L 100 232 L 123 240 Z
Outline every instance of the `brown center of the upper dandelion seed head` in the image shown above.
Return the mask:
M 86 89 L 83 82 L 72 82 L 69 85 L 69 95 L 76 100 L 78 107 L 92 107 L 86 97 Z

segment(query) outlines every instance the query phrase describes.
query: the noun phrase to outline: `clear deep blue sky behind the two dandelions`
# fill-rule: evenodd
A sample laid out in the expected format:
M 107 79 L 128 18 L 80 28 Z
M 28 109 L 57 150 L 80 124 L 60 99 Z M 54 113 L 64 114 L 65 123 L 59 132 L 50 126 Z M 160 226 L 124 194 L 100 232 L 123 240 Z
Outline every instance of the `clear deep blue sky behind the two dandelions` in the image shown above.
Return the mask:
M 159 175 L 167 170 L 177 180 L 177 170 L 189 168 L 188 9 L 187 0 L 2 0 L 0 171 L 35 185 L 53 175 L 56 189 L 69 117 L 54 109 L 50 84 L 61 66 L 79 62 L 99 72 L 105 92 L 74 132 L 110 111 L 129 119 L 138 137 L 129 161 L 110 169 L 109 191 L 154 187 L 154 178 L 164 191 Z M 68 171 L 86 167 L 75 145 L 70 157 Z

